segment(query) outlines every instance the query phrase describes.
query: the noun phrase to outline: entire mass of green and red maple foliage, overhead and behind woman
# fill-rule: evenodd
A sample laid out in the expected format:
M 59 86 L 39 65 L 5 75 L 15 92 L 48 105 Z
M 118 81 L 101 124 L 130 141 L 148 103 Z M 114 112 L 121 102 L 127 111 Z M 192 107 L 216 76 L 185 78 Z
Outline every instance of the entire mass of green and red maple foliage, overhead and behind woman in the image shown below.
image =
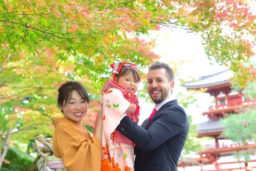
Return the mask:
M 130 59 L 143 70 L 159 58 L 154 42 L 139 38 L 149 30 L 200 34 L 207 57 L 229 67 L 241 86 L 255 75 L 252 65 L 242 65 L 254 55 L 256 33 L 245 1 L 0 0 L 0 11 L 1 143 L 26 143 L 38 130 L 50 134 L 59 115 L 56 90 L 70 79 L 96 99 L 85 118 L 92 125 L 109 63 Z M 1 167 L 6 151 L 0 152 Z

